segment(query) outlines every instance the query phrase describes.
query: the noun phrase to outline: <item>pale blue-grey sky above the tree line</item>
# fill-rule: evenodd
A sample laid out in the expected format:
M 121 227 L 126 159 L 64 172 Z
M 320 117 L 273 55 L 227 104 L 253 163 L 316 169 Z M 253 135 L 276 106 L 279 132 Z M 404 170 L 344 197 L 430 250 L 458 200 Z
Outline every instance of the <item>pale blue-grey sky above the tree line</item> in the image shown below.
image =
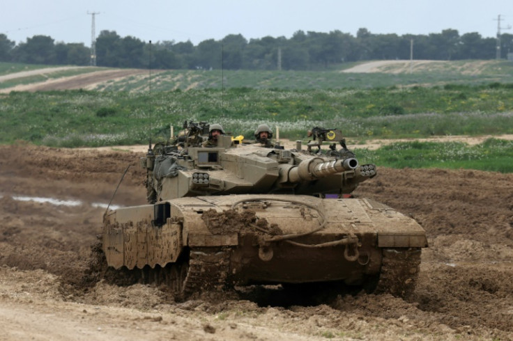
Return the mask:
M 108 30 L 194 45 L 239 33 L 288 39 L 299 30 L 355 36 L 360 28 L 397 35 L 455 29 L 495 38 L 500 24 L 501 33 L 513 34 L 511 0 L 2 0 L 0 8 L 0 33 L 16 44 L 49 35 L 90 47 L 93 17 L 95 36 Z

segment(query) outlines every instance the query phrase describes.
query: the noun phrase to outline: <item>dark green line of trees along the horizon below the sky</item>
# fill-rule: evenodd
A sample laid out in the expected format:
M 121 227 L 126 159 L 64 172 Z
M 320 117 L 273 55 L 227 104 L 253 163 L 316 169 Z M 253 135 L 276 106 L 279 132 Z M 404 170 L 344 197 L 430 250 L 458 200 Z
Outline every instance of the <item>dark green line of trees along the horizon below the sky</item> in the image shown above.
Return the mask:
M 320 70 L 341 63 L 382 59 L 493 59 L 496 38 L 480 33 L 460 35 L 446 29 L 429 35 L 374 34 L 359 29 L 356 36 L 341 31 L 329 33 L 296 31 L 291 38 L 250 39 L 230 34 L 193 45 L 174 40 L 144 42 L 116 31 L 101 31 L 95 42 L 96 65 L 114 68 L 227 69 L 227 70 Z M 413 49 L 411 47 L 413 46 Z M 513 51 L 513 35 L 500 35 L 500 58 Z M 54 42 L 47 35 L 34 35 L 15 45 L 0 34 L 0 61 L 47 65 L 89 65 L 91 49 L 83 43 Z

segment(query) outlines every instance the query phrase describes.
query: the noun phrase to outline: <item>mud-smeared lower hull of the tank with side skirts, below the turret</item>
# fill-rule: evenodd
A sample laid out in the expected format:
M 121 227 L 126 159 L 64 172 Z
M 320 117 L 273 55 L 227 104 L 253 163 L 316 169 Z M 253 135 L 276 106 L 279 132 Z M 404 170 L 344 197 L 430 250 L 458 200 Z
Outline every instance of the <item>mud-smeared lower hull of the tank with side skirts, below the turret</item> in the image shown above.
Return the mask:
M 183 294 L 344 280 L 383 291 L 408 282 L 392 292 L 405 296 L 427 239 L 413 219 L 373 200 L 232 195 L 111 211 L 102 244 L 110 267 L 162 269 L 162 281 Z M 387 271 L 399 278 L 385 283 Z

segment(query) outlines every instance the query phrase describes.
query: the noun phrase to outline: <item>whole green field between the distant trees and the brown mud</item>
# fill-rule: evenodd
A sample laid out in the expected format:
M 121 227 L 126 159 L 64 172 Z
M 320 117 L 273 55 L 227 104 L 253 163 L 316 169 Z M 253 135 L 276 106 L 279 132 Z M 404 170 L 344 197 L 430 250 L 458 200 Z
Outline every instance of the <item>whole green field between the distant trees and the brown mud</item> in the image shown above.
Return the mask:
M 215 72 L 202 71 L 193 72 L 196 78 L 188 81 L 203 86 L 192 90 L 171 86 L 175 90 L 169 90 L 162 79 L 169 79 L 169 74 L 180 77 L 179 71 L 173 71 L 163 72 L 160 78 L 152 76 L 151 92 L 144 77 L 143 84 L 135 78 L 125 79 L 123 84 L 105 84 L 102 91 L 11 92 L 0 95 L 0 143 L 29 141 L 70 148 L 141 144 L 150 137 L 166 140 L 169 126 L 177 132 L 184 120 L 219 122 L 231 134 L 245 136 L 252 136 L 254 127 L 266 122 L 273 129 L 280 127 L 280 137 L 304 141 L 312 127 L 339 128 L 356 145 L 373 138 L 513 134 L 513 66 L 507 62 L 491 65 L 479 77 L 448 70 L 358 74 L 362 82 L 373 86 L 353 86 L 354 80 L 343 86 L 341 79 L 355 75 L 341 76 L 339 70 L 232 72 L 224 74 L 223 84 L 215 80 Z M 0 65 L 2 70 L 6 68 Z M 181 72 L 182 79 L 187 74 Z M 404 86 L 413 79 L 409 77 L 417 77 L 424 86 Z M 339 86 L 333 85 L 335 79 Z M 491 141 L 488 149 L 422 143 L 392 146 L 358 154 L 381 166 L 399 168 L 513 171 L 507 141 Z

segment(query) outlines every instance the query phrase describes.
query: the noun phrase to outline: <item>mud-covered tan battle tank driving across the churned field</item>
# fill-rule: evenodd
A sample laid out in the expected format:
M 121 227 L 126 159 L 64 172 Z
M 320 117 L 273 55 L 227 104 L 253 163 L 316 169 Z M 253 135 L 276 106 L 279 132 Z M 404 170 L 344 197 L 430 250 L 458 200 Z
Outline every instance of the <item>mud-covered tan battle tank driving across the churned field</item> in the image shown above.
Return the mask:
M 426 234 L 414 219 L 351 194 L 376 166 L 360 164 L 339 130 L 315 127 L 306 148 L 240 136 L 203 148 L 208 125 L 184 127 L 140 159 L 148 203 L 105 213 L 109 267 L 182 298 L 298 283 L 413 292 Z

